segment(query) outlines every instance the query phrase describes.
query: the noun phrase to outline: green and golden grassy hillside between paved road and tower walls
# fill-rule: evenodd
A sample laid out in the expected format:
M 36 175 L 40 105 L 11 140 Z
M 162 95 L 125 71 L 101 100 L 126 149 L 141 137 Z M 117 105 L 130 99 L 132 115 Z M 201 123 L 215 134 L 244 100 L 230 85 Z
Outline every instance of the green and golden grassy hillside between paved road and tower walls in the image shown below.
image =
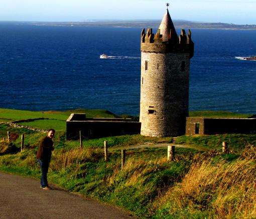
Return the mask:
M 19 111 L 20 116 L 12 117 L 9 110 L 4 111 L 4 120 L 44 114 L 53 116 L 42 120 L 51 124 L 62 121 L 54 116 L 66 113 L 31 112 L 30 116 L 28 111 Z M 204 113 L 207 114 L 212 116 L 214 112 Z M 48 124 L 37 125 L 42 128 Z M 7 130 L 11 132 L 10 142 L 6 139 Z M 25 149 L 20 151 L 22 133 Z M 0 170 L 40 179 L 35 153 L 43 136 L 45 133 L 0 124 Z M 109 149 L 107 162 L 104 140 L 114 148 Z M 48 178 L 51 183 L 122 207 L 139 218 L 256 218 L 255 134 L 179 136 L 176 144 L 190 147 L 176 146 L 173 161 L 167 159 L 166 147 L 127 149 L 121 168 L 118 148 L 171 140 L 172 137 L 122 135 L 83 140 L 81 149 L 79 141 L 65 140 L 65 129 L 60 127 L 54 137 L 56 148 Z M 226 152 L 222 152 L 222 141 L 228 142 Z

